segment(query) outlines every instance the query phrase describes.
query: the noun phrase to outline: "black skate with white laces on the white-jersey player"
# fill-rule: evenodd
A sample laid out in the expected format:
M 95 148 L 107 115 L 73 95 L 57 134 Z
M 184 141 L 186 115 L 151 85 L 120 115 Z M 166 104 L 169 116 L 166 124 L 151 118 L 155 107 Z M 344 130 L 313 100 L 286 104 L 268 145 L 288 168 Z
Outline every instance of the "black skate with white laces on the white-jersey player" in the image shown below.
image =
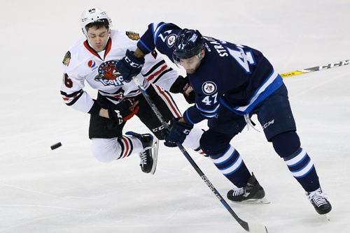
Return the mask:
M 126 135 L 132 135 L 137 137 L 142 143 L 144 150 L 140 152 L 140 166 L 142 172 L 145 173 L 155 173 L 155 168 L 157 167 L 157 158 L 158 158 L 158 139 L 153 137 L 150 133 L 139 134 L 134 132 L 127 132 Z

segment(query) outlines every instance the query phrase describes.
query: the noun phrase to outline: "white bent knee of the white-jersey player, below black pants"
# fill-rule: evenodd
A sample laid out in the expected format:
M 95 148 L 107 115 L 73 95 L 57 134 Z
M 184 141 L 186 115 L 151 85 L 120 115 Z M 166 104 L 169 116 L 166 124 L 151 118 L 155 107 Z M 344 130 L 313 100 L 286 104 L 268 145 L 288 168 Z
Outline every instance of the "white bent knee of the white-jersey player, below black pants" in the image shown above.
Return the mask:
M 118 158 L 119 144 L 116 138 L 92 138 L 91 151 L 94 158 L 110 163 Z

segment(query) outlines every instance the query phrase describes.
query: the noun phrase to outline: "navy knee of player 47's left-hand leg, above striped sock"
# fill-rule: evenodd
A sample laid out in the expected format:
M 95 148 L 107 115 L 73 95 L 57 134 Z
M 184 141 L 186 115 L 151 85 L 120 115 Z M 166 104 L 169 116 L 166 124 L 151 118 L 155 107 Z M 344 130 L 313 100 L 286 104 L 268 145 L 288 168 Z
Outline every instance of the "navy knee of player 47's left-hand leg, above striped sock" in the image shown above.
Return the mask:
M 202 134 L 200 147 L 209 156 L 216 156 L 225 153 L 233 135 L 218 133 L 214 130 L 207 130 Z

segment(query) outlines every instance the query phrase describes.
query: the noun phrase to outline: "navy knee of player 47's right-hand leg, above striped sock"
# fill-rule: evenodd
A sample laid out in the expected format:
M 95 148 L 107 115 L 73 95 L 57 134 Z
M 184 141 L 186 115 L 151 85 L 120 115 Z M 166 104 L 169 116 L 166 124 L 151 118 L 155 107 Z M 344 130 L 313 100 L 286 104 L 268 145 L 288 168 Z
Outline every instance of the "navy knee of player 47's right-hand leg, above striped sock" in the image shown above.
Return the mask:
M 274 151 L 281 158 L 286 158 L 300 148 L 300 139 L 295 131 L 280 133 L 272 137 L 271 142 L 274 146 Z

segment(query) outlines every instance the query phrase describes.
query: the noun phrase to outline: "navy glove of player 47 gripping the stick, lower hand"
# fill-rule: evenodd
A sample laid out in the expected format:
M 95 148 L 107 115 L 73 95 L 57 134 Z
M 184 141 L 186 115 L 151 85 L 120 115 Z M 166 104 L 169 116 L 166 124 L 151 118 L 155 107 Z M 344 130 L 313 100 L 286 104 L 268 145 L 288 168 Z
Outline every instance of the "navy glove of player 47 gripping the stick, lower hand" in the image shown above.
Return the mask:
M 165 136 L 165 146 L 175 147 L 176 142 L 183 144 L 190 130 L 193 129 L 193 125 L 185 122 L 180 122 L 179 118 L 175 119 L 172 124 L 168 135 Z

